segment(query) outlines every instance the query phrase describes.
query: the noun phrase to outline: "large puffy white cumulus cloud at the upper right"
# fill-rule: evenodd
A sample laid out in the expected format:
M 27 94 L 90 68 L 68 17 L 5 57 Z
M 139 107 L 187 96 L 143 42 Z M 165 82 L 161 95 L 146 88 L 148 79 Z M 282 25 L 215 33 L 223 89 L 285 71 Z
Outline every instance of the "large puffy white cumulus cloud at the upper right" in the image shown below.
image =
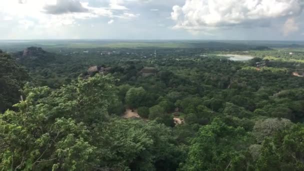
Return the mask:
M 273 18 L 299 15 L 302 0 L 185 0 L 172 7 L 173 28 L 203 30 L 240 25 L 266 26 Z

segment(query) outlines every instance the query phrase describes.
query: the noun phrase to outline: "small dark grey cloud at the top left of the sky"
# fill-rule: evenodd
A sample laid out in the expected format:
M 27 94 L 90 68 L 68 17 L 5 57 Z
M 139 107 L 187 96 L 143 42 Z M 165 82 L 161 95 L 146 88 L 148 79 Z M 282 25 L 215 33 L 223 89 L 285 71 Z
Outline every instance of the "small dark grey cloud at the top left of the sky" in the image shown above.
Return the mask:
M 84 8 L 79 0 L 57 0 L 54 5 L 44 6 L 44 10 L 46 13 L 50 14 L 88 12 L 88 9 Z

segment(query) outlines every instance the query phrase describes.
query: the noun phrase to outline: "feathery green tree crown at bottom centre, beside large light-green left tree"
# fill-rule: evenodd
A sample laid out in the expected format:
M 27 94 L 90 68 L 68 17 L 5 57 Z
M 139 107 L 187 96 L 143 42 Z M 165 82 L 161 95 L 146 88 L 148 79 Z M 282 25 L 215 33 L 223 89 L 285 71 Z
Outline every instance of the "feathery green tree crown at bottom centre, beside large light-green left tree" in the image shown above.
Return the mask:
M 171 130 L 156 122 L 115 118 L 93 132 L 102 162 L 115 170 L 175 170 L 184 155 L 170 142 Z

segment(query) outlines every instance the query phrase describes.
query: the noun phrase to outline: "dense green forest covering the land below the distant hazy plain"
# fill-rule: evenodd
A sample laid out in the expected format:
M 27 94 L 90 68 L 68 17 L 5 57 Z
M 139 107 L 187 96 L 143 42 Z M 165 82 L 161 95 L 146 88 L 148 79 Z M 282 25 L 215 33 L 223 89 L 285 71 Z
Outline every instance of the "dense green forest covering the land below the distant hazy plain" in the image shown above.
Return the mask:
M 0 170 L 304 170 L 300 49 L 0 51 Z

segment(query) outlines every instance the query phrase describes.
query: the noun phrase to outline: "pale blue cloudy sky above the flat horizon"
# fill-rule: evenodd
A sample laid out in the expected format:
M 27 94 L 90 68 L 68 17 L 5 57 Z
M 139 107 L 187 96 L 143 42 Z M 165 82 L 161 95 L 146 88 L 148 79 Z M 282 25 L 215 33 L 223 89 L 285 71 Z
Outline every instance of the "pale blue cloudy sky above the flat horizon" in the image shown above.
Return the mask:
M 304 0 L 0 0 L 0 39 L 304 40 Z

